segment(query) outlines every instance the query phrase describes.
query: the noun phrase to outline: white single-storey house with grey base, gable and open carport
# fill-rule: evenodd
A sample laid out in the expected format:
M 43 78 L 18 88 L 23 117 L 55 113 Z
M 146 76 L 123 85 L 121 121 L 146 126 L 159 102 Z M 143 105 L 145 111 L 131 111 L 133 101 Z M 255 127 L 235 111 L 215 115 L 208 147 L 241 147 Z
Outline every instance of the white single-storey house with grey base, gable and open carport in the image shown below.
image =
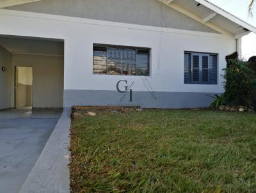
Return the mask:
M 0 1 L 0 109 L 207 107 L 256 33 L 204 0 Z M 26 68 L 25 68 L 26 67 Z

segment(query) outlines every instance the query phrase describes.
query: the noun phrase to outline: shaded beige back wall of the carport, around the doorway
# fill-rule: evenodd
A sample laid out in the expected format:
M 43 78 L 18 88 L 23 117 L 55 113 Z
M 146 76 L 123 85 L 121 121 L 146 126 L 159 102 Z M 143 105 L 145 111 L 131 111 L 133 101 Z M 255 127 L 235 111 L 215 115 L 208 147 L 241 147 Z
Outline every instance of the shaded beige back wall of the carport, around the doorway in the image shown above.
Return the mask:
M 63 107 L 63 63 L 63 57 L 13 54 L 13 72 L 15 66 L 33 67 L 32 102 L 34 108 Z M 12 81 L 14 82 L 14 76 Z M 29 82 L 26 83 L 29 84 Z M 14 88 L 12 86 L 12 107 L 14 107 L 13 102 Z

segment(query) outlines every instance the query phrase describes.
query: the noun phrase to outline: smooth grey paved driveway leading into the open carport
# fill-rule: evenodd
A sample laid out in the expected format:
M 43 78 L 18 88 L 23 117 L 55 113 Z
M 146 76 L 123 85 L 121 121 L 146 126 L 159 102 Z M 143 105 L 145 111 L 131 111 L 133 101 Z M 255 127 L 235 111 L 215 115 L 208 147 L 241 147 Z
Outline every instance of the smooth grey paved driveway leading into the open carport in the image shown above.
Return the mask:
M 60 115 L 60 110 L 0 111 L 0 192 L 19 192 Z

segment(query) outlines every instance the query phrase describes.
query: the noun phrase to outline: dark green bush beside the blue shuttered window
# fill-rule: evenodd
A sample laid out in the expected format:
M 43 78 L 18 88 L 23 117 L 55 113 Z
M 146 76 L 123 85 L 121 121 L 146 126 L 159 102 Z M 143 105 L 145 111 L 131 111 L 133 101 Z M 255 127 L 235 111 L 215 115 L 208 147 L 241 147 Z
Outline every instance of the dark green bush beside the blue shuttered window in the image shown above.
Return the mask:
M 252 107 L 256 91 L 255 72 L 245 61 L 230 59 L 225 68 L 225 103 L 227 105 L 244 105 Z

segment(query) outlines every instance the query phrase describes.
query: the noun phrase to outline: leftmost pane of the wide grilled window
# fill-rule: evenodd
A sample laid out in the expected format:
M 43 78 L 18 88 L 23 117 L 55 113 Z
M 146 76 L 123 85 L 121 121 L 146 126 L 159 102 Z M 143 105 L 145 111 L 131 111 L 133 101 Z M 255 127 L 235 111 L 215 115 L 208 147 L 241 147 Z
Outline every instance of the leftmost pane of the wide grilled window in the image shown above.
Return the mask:
M 107 72 L 106 48 L 93 47 L 93 73 L 106 73 L 106 72 Z

